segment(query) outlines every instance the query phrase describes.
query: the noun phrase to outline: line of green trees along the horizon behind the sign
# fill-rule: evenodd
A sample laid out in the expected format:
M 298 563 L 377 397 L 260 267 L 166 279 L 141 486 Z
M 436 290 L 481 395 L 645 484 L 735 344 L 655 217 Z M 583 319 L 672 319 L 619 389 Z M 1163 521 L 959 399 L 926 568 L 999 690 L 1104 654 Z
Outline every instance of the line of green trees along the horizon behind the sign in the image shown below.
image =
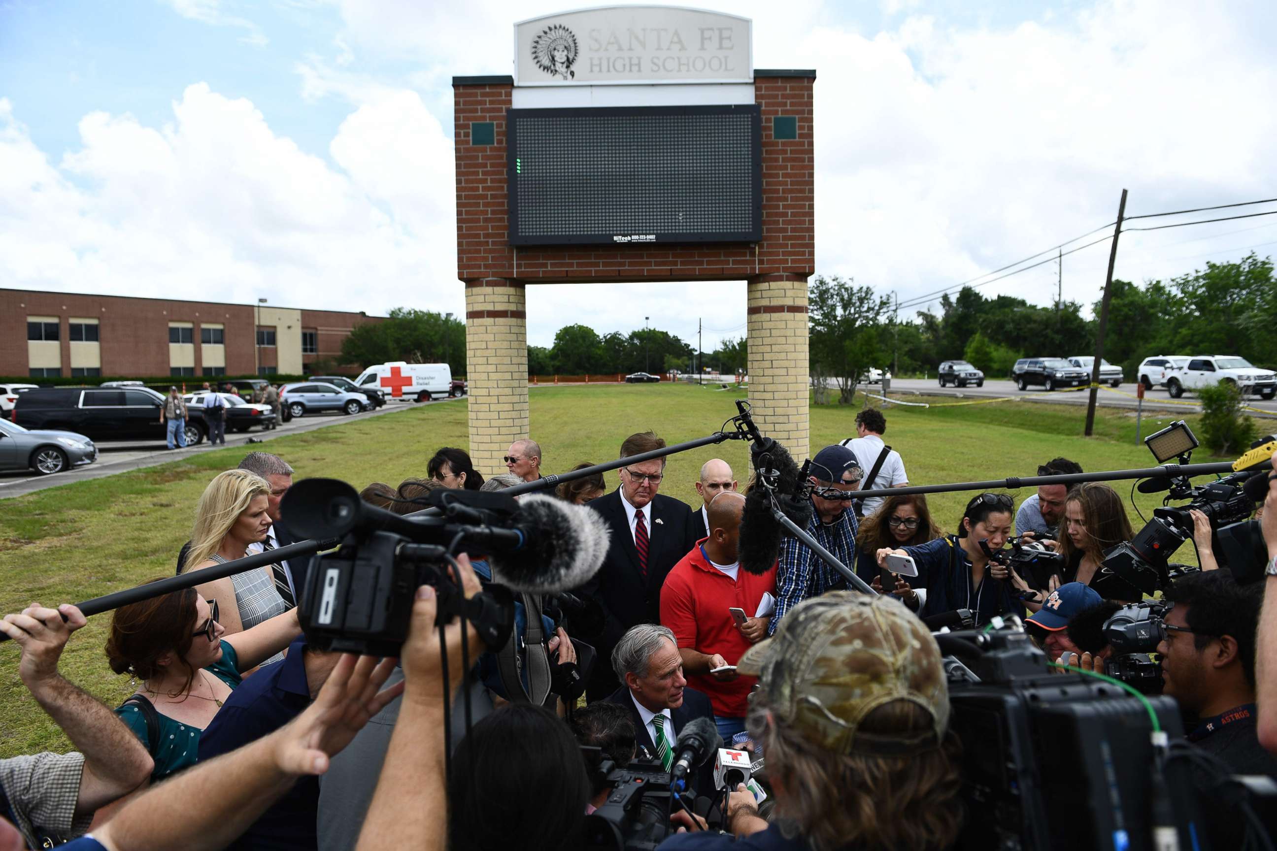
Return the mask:
M 872 287 L 839 277 L 808 285 L 810 371 L 813 387 L 839 379 L 849 399 L 870 367 L 899 375 L 935 374 L 945 360 L 968 360 L 991 378 L 1004 378 L 1020 357 L 1093 355 L 1099 299 L 1091 305 L 1060 301 L 1032 305 L 1013 296 L 986 297 L 963 287 L 941 296 L 939 306 L 896 322 L 890 299 Z M 1120 365 L 1128 381 L 1153 355 L 1240 355 L 1277 366 L 1277 277 L 1272 258 L 1254 253 L 1235 263 L 1207 263 L 1168 281 L 1135 285 L 1115 279 L 1105 359 Z M 466 373 L 465 323 L 434 311 L 396 307 L 381 323 L 359 325 L 342 343 L 342 364 L 386 361 L 446 362 Z M 696 348 L 659 328 L 599 334 L 566 325 L 549 347 L 527 347 L 531 375 L 608 375 L 626 373 L 719 373 L 744 370 L 743 337 L 724 338 L 713 351 Z

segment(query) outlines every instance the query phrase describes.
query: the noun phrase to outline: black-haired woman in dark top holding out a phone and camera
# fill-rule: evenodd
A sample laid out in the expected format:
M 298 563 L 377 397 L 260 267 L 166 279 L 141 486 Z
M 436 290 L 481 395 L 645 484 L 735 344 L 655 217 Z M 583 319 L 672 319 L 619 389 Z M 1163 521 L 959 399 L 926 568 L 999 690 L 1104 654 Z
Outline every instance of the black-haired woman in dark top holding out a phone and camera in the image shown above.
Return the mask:
M 958 535 L 917 546 L 884 547 L 876 554 L 877 564 L 886 568 L 886 556 L 893 552 L 913 558 L 918 566 L 913 584 L 926 591 L 918 609 L 923 618 L 958 609 L 969 610 L 977 624 L 987 624 L 996 615 L 1023 618 L 1024 603 L 1009 582 L 1010 572 L 992 564 L 985 552 L 985 546 L 1001 550 L 1011 536 L 1014 508 L 1006 494 L 981 494 L 967 503 Z

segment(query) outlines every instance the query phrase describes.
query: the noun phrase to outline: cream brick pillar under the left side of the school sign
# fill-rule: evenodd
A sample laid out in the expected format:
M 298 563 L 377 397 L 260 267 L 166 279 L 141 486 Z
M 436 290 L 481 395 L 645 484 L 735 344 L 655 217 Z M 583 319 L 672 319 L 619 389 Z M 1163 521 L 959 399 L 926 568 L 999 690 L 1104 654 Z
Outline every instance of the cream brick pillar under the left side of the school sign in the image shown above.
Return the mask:
M 510 444 L 529 436 L 525 307 L 517 281 L 466 281 L 470 458 L 484 476 L 506 472 Z

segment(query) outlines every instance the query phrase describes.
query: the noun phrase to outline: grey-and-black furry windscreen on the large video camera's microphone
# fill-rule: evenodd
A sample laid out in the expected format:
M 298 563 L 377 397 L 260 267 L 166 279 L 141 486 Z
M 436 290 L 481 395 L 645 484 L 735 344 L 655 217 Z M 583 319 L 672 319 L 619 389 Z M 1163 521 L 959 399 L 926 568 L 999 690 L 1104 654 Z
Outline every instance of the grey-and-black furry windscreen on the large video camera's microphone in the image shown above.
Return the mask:
M 607 522 L 584 505 L 544 494 L 518 500 L 515 526 L 526 542 L 512 552 L 490 556 L 493 579 L 512 591 L 554 593 L 589 582 L 608 555 Z

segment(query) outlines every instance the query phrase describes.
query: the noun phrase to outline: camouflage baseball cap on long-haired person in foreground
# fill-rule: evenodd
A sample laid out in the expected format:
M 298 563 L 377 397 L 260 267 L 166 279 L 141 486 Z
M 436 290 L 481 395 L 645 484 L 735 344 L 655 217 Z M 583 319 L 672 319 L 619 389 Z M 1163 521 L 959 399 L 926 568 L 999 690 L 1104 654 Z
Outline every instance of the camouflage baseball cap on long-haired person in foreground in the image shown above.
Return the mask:
M 937 746 L 949 725 L 949 685 L 926 625 L 889 596 L 835 591 L 806 600 L 775 634 L 746 651 L 741 674 L 759 676 L 773 712 L 807 741 L 839 755 L 899 755 Z M 885 703 L 922 707 L 917 735 L 857 734 Z

